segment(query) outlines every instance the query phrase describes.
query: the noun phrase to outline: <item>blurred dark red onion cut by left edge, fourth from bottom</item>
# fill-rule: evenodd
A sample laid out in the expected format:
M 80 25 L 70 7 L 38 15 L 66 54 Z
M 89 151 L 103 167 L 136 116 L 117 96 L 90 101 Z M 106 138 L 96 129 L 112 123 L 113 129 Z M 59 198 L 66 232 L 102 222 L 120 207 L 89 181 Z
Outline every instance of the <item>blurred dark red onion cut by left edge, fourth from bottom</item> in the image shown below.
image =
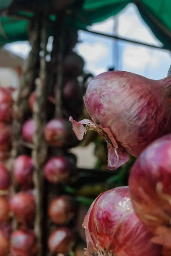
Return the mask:
M 9 151 L 11 148 L 11 125 L 0 122 L 0 151 Z

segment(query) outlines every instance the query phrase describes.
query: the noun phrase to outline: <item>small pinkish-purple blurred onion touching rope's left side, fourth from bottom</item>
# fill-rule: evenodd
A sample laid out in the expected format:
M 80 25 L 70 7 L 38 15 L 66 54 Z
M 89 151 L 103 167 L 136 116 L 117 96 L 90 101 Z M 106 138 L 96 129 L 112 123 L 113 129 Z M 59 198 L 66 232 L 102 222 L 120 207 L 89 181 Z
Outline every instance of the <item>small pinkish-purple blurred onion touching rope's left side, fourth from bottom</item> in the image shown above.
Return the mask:
M 29 119 L 24 122 L 22 127 L 23 139 L 29 143 L 33 143 L 33 136 L 35 134 L 35 120 Z

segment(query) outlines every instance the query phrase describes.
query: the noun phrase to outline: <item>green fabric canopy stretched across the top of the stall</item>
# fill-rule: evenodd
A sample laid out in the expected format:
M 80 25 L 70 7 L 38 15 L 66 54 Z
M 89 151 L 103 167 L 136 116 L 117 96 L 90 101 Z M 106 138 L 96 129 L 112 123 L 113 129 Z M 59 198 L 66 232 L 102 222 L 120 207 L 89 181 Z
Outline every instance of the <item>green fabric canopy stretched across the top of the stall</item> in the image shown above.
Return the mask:
M 26 2 L 26 0 L 21 1 Z M 37 0 L 28 1 L 37 2 Z M 2 12 L 3 9 L 8 8 L 12 2 L 15 2 L 15 0 L 0 0 L 0 11 Z M 151 28 L 154 35 L 162 42 L 166 49 L 171 50 L 171 0 L 84 0 L 83 7 L 76 18 L 76 26 L 78 29 L 81 29 L 86 28 L 87 25 L 103 21 L 110 16 L 116 15 L 128 3 L 136 4 L 140 15 Z M 29 20 L 25 19 L 25 17 L 32 17 L 33 14 L 22 12 L 21 10 L 17 14 L 22 18 L 1 15 L 1 45 L 28 39 L 27 27 Z M 55 20 L 55 15 L 51 15 L 51 19 Z

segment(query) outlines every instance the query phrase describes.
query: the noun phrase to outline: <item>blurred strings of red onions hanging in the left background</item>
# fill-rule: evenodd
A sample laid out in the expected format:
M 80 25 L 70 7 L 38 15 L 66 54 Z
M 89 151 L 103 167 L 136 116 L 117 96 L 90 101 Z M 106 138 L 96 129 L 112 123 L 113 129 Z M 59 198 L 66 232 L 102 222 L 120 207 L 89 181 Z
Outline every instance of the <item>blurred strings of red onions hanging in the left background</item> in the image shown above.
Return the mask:
M 63 64 L 64 85 L 60 117 L 55 114 L 59 84 L 54 82 L 46 100 L 47 123 L 44 127 L 44 139 L 50 153 L 44 159 L 42 175 L 48 187 L 59 184 L 62 187 L 62 183 L 72 182 L 77 175 L 77 158 L 70 153 L 70 148 L 77 146 L 79 142 L 68 118 L 72 115 L 78 119 L 83 112 L 83 88 L 78 76 L 83 75 L 84 60 L 72 51 L 77 42 L 77 31 L 72 33 L 69 29 L 68 38 L 70 40 L 65 45 Z M 52 70 L 51 63 L 48 68 Z M 13 99 L 17 95 L 13 95 L 13 92 L 11 88 L 0 87 L 0 256 L 35 256 L 38 251 L 38 239 L 34 232 L 37 204 L 34 172 L 37 166 L 32 149 L 35 143 L 36 123 L 33 113 L 37 111 L 37 91 L 33 90 L 28 97 L 29 108 L 24 113 L 21 138 L 18 140 L 23 152 L 14 159 L 10 175 L 5 160 L 9 160 L 12 148 L 12 119 L 14 116 L 18 119 L 15 108 L 13 113 Z M 11 184 L 14 186 L 12 193 L 9 192 Z M 73 219 L 78 205 L 75 197 L 65 191 L 59 191 L 59 194 L 49 198 L 46 214 L 53 232 L 49 234 L 47 246 L 51 253 L 67 253 L 74 244 Z M 12 230 L 12 218 L 17 222 L 16 230 Z

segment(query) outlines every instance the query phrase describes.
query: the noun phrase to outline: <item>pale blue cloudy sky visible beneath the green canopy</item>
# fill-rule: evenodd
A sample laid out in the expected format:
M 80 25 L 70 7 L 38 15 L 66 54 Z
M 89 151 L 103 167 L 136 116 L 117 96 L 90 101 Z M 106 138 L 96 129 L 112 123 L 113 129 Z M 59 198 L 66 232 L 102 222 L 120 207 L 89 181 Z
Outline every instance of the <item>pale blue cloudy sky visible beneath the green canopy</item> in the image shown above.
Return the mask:
M 116 35 L 162 46 L 133 4 L 126 6 L 115 17 L 96 23 L 88 29 L 112 35 L 116 24 Z M 167 76 L 171 65 L 171 53 L 167 50 L 130 44 L 83 31 L 79 31 L 78 35 L 82 43 L 76 45 L 75 51 L 84 58 L 85 71 L 95 76 L 110 67 L 151 79 L 162 79 Z M 23 58 L 26 58 L 30 50 L 28 42 L 16 42 L 7 45 L 6 48 Z

